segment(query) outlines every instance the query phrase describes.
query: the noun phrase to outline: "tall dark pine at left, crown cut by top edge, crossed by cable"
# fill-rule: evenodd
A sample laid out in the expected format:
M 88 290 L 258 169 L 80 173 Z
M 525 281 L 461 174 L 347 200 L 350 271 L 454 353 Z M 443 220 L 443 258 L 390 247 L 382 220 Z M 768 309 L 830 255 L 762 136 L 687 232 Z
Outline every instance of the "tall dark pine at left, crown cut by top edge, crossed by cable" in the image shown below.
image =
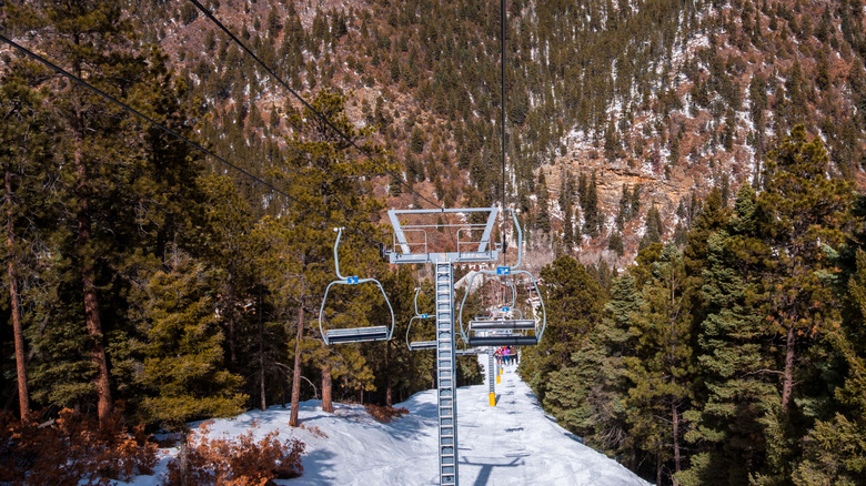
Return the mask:
M 54 53 L 73 74 L 121 98 L 144 80 L 144 58 L 132 50 L 131 26 L 121 18 L 119 4 L 41 0 L 34 6 L 40 29 L 50 26 L 52 33 L 42 38 L 42 49 Z M 63 212 L 69 216 L 57 224 L 52 237 L 59 245 L 52 250 L 66 257 L 51 269 L 62 297 L 47 305 L 79 303 L 75 310 L 63 310 L 66 315 L 49 311 L 60 318 L 59 325 L 40 341 L 48 343 L 44 351 L 57 354 L 43 356 L 38 368 L 47 373 L 42 375 L 47 379 L 39 381 L 48 387 L 44 396 L 67 404 L 81 404 L 94 394 L 99 419 L 104 423 L 112 407 L 107 336 L 118 331 L 121 320 L 115 320 L 115 313 L 122 308 L 107 303 L 122 298 L 123 285 L 114 282 L 114 273 L 123 265 L 119 246 L 133 241 L 135 205 L 129 203 L 129 165 L 135 160 L 137 143 L 124 133 L 129 117 L 78 84 L 58 85 L 51 101 L 66 129 L 60 144 L 68 160 L 61 166 L 60 181 L 64 182 Z M 79 342 L 71 353 L 62 350 L 82 331 L 79 323 L 83 323 L 87 337 L 74 337 Z M 49 343 L 52 333 L 64 334 L 70 341 Z M 81 367 L 79 350 L 88 350 L 89 366 Z M 66 381 L 49 378 L 51 374 Z

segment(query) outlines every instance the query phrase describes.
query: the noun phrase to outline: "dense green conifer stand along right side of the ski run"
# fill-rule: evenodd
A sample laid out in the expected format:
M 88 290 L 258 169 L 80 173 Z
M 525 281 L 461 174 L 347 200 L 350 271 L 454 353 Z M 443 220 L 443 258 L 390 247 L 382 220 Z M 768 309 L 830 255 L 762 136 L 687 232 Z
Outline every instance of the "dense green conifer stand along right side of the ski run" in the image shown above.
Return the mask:
M 521 373 L 586 444 L 656 484 L 863 484 L 866 199 L 796 126 L 732 204 L 602 285 L 542 271 Z

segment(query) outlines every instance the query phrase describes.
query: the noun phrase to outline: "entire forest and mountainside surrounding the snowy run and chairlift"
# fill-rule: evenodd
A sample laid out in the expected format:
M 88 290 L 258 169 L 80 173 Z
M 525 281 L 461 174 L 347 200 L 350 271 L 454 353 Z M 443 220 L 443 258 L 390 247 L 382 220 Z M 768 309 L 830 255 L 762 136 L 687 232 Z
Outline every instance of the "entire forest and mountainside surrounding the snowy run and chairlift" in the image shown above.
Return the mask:
M 168 432 L 169 482 L 212 484 L 235 453 L 191 422 L 399 416 L 433 275 L 382 257 L 385 211 L 504 204 L 561 426 L 657 485 L 866 485 L 866 2 L 503 4 L 0 0 L 0 483 L 128 480 Z M 391 341 L 324 343 L 338 225 Z M 334 326 L 390 318 L 332 292 Z M 302 474 L 269 441 L 216 483 Z

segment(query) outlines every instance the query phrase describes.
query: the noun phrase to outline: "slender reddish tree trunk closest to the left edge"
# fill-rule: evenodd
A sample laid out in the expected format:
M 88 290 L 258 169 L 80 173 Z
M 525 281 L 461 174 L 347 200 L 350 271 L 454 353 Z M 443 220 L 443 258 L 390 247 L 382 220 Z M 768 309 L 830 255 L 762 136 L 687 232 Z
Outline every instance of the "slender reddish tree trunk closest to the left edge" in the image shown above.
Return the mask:
M 18 375 L 18 406 L 21 423 L 30 422 L 30 394 L 27 391 L 27 363 L 24 361 L 24 334 L 21 323 L 21 301 L 18 294 L 18 273 L 16 272 L 14 220 L 12 217 L 12 171 L 6 168 L 6 242 L 9 255 L 9 300 L 12 303 L 12 334 L 16 343 L 16 373 Z

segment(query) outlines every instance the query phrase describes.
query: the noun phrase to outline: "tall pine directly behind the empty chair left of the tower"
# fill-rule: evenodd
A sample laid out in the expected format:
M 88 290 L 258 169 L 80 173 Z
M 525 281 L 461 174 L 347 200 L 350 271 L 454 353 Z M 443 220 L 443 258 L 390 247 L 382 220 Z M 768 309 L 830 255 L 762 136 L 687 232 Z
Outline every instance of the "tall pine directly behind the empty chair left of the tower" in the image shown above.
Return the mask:
M 272 245 L 278 254 L 292 255 L 275 262 L 270 271 L 280 272 L 283 276 L 272 279 L 274 291 L 281 294 L 281 300 L 294 303 L 298 322 L 294 340 L 294 378 L 292 384 L 292 425 L 298 425 L 298 406 L 300 401 L 301 364 L 305 356 L 314 361 L 322 372 L 323 408 L 329 408 L 332 378 L 344 377 L 344 382 L 355 391 L 374 388 L 373 376 L 365 357 L 356 346 L 343 346 L 340 353 L 325 348 L 321 342 L 308 342 L 304 335 L 304 324 L 308 315 L 315 315 L 319 310 L 325 285 L 335 279 L 333 274 L 333 222 L 325 221 L 321 214 L 328 214 L 333 221 L 345 222 L 351 229 L 344 232 L 341 243 L 341 271 L 371 273 L 382 267 L 379 249 L 367 242 L 359 241 L 358 234 L 375 234 L 372 226 L 372 214 L 381 209 L 381 203 L 372 196 L 371 180 L 383 175 L 386 161 L 381 150 L 363 139 L 372 132 L 370 129 L 358 130 L 345 114 L 345 97 L 338 92 L 320 91 L 311 102 L 312 107 L 338 126 L 356 144 L 363 146 L 370 155 L 362 159 L 351 159 L 345 149 L 348 142 L 333 130 L 321 122 L 312 113 L 304 117 L 294 113 L 290 122 L 296 133 L 289 140 L 286 161 L 291 172 L 279 173 L 292 184 L 292 195 L 299 201 L 293 204 L 290 213 L 271 222 L 272 230 L 280 236 L 272 239 Z M 352 249 L 348 252 L 345 249 Z M 346 259 L 346 255 L 352 255 Z M 289 284 L 290 275 L 299 275 Z M 355 295 L 342 308 L 325 306 L 329 321 L 336 317 L 336 323 L 350 323 L 354 326 L 367 322 L 372 313 L 372 303 L 376 290 L 371 293 L 370 286 L 352 288 L 353 292 L 366 292 Z M 319 302 L 316 302 L 319 301 Z M 339 302 L 335 300 L 334 302 Z M 340 311 L 336 313 L 336 311 Z M 354 320 L 354 321 L 353 321 Z

